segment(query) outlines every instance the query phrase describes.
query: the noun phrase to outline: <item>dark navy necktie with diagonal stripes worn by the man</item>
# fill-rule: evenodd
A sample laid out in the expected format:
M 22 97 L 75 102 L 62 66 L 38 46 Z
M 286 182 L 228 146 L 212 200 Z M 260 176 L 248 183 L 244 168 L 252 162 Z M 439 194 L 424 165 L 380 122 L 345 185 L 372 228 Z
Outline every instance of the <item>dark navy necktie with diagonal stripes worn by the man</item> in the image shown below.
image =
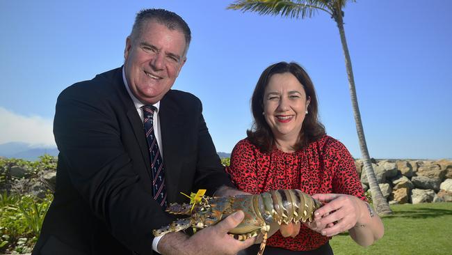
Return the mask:
M 154 111 L 153 105 L 143 105 L 144 126 L 147 139 L 147 147 L 151 158 L 152 190 L 154 199 L 160 206 L 166 207 L 165 169 L 160 154 L 159 144 L 154 134 Z

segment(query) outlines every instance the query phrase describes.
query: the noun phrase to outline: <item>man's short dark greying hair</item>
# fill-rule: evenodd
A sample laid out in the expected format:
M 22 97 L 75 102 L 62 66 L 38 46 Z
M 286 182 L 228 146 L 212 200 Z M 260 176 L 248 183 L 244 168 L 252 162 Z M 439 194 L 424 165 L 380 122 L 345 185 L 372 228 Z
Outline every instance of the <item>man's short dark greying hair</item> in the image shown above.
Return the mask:
M 186 49 L 188 49 L 188 45 L 190 45 L 191 41 L 191 31 L 188 24 L 186 24 L 186 22 L 176 13 L 164 9 L 140 10 L 140 12 L 136 14 L 134 27 L 130 33 L 131 38 L 138 38 L 142 32 L 141 29 L 143 29 L 143 25 L 149 21 L 159 22 L 159 24 L 165 25 L 170 30 L 177 30 L 184 33 Z

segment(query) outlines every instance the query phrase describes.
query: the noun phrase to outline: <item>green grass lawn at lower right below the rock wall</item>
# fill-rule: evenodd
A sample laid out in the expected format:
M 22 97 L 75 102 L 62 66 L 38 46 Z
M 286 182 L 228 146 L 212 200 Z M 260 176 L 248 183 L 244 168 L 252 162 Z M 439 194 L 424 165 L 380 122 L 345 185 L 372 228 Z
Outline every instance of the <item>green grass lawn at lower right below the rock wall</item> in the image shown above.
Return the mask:
M 391 206 L 382 217 L 385 235 L 370 247 L 360 247 L 348 236 L 337 235 L 330 244 L 341 254 L 452 254 L 452 203 Z

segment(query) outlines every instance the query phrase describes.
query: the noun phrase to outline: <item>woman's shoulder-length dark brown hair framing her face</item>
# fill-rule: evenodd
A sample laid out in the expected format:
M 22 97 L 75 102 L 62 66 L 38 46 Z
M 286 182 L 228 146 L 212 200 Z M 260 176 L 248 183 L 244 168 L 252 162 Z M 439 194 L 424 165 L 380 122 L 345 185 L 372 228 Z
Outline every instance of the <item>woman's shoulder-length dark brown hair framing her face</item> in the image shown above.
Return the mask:
M 264 93 L 265 88 L 268 85 L 272 75 L 289 72 L 298 79 L 298 82 L 305 88 L 306 100 L 310 97 L 311 102 L 307 107 L 308 114 L 305 116 L 305 120 L 302 123 L 300 135 L 294 150 L 301 150 L 305 148 L 312 141 L 316 141 L 325 135 L 325 127 L 318 121 L 318 105 L 316 91 L 314 90 L 314 84 L 312 84 L 311 78 L 307 75 L 307 72 L 298 63 L 286 63 L 280 62 L 270 65 L 264 72 L 262 72 L 259 81 L 257 81 L 255 91 L 252 93 L 251 98 L 251 111 L 254 118 L 251 130 L 247 130 L 248 139 L 255 144 L 260 150 L 269 152 L 273 149 L 275 139 L 273 132 L 271 132 L 268 123 L 265 120 L 264 115 Z

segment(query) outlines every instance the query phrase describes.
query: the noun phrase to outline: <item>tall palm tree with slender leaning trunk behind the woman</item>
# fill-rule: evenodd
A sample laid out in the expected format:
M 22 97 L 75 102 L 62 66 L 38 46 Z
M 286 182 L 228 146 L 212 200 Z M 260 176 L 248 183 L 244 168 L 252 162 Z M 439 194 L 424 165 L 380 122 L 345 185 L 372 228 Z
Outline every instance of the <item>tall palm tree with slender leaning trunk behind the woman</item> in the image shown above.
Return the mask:
M 369 150 L 367 150 L 366 138 L 362 127 L 360 108 L 353 78 L 352 62 L 348 53 L 346 34 L 344 31 L 344 11 L 342 10 L 348 1 L 355 0 L 239 0 L 229 5 L 228 9 L 257 12 L 259 15 L 281 15 L 282 17 L 298 18 L 312 17 L 318 11 L 328 13 L 337 24 L 341 36 L 342 49 L 344 51 L 350 97 L 355 117 L 356 131 L 360 141 L 361 154 L 364 159 L 364 169 L 369 180 L 372 200 L 379 215 L 391 214 L 392 210 L 382 195 L 376 179 L 375 171 L 371 164 Z

